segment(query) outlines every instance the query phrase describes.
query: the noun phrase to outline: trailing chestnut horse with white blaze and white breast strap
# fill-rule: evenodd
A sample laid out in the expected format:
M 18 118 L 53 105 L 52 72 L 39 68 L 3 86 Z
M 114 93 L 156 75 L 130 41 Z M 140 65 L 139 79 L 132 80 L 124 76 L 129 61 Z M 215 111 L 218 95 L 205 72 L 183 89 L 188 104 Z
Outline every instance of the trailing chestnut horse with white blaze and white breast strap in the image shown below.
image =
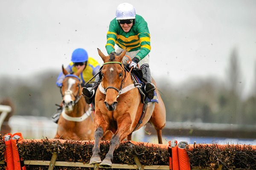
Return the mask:
M 94 114 L 90 105 L 81 99 L 82 87 L 79 75 L 84 66 L 70 74 L 62 65 L 65 78 L 62 82 L 61 96 L 64 109 L 58 120 L 55 139 L 93 140 Z

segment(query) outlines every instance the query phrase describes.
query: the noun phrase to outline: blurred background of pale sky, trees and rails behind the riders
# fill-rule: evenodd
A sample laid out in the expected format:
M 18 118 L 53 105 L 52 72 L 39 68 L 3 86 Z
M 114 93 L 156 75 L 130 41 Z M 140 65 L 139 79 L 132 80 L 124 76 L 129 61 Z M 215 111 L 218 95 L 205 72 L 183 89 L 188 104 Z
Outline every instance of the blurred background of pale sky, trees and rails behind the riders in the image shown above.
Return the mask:
M 148 23 L 150 68 L 166 106 L 165 143 L 256 144 L 256 1 L 128 0 Z M 76 48 L 102 64 L 119 0 L 0 1 L 0 99 L 25 138 L 52 138 L 55 85 Z M 1 132 L 2 133 L 2 132 Z M 151 125 L 140 130 L 157 142 Z

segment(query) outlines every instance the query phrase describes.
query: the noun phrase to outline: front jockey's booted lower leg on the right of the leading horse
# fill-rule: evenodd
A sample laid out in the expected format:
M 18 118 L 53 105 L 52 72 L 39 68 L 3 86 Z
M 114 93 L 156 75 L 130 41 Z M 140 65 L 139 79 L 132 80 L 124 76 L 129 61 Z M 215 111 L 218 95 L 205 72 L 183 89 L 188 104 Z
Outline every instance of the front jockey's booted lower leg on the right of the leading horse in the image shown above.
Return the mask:
M 147 64 L 144 64 L 141 66 L 141 70 L 143 72 L 143 79 L 146 81 L 145 84 L 145 93 L 148 96 L 148 99 L 153 99 L 154 98 L 154 90 L 156 87 L 151 81 L 151 74 L 150 74 L 150 69 Z

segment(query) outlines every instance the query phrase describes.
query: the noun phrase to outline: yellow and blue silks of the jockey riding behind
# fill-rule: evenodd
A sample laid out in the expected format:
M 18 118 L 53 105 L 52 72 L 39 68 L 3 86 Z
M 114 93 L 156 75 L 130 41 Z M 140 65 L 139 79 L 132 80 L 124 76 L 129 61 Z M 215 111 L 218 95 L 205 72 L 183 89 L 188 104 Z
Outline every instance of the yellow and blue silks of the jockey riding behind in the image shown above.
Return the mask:
M 93 59 L 92 57 L 88 57 L 86 66 L 79 76 L 81 83 L 84 84 L 85 82 L 90 80 L 94 75 L 96 75 L 99 72 L 100 67 L 101 67 L 100 64 L 95 59 Z M 68 72 L 76 73 L 78 69 L 75 67 L 74 62 L 70 62 L 66 70 Z M 62 81 L 64 80 L 64 78 L 65 78 L 65 75 L 61 72 L 56 82 L 56 85 L 58 87 L 61 87 Z M 91 81 L 94 81 L 94 79 L 92 79 Z

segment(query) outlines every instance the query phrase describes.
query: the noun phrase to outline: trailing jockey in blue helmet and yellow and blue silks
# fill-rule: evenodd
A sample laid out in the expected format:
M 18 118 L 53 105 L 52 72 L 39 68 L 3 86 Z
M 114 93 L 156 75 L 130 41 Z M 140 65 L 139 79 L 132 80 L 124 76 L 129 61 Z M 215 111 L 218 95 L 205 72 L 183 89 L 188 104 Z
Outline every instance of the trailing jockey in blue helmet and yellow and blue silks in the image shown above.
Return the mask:
M 99 69 L 101 65 L 99 62 L 96 61 L 96 59 L 93 59 L 92 57 L 88 57 L 87 51 L 83 48 L 77 48 L 73 51 L 71 62 L 67 66 L 66 70 L 69 73 L 76 73 L 76 71 L 79 70 L 81 66 L 85 65 L 84 70 L 81 72 L 79 78 L 81 80 L 81 86 L 84 87 L 84 83 L 90 80 L 94 75 L 96 75 L 99 72 Z M 61 88 L 62 82 L 65 78 L 65 75 L 61 72 L 57 78 L 56 85 Z M 95 81 L 95 78 L 91 81 Z M 92 86 L 91 84 L 87 84 L 88 87 Z M 62 103 L 57 109 L 57 113 L 52 116 L 54 119 L 53 121 L 55 123 L 58 122 L 59 116 L 62 111 Z

